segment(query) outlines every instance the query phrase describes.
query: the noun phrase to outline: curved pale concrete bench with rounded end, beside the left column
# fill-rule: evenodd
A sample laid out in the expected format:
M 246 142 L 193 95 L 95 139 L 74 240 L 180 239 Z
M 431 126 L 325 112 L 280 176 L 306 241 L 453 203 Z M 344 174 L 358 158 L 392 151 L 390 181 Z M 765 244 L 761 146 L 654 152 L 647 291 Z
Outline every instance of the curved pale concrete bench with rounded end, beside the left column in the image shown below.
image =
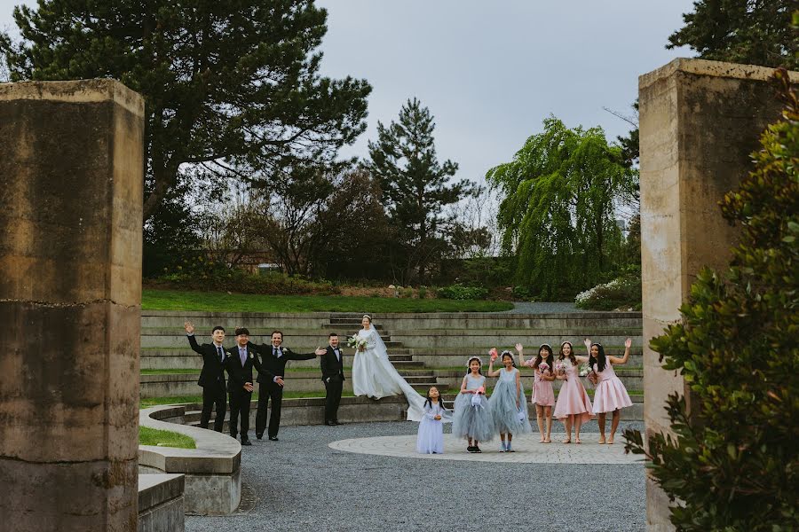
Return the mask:
M 141 473 L 186 475 L 186 513 L 226 515 L 241 502 L 241 443 L 227 434 L 183 424 L 186 408 L 154 406 L 138 414 L 138 424 L 185 434 L 196 449 L 138 446 Z

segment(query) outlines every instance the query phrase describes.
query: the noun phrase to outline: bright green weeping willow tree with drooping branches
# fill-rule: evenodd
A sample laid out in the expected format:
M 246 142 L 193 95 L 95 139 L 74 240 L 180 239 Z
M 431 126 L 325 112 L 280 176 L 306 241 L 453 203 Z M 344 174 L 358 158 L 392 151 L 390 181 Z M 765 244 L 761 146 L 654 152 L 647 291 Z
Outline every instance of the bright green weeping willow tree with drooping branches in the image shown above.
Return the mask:
M 502 250 L 518 256 L 516 280 L 547 297 L 597 284 L 616 266 L 615 210 L 637 190 L 637 173 L 601 128 L 568 129 L 550 117 L 487 181 L 504 196 Z

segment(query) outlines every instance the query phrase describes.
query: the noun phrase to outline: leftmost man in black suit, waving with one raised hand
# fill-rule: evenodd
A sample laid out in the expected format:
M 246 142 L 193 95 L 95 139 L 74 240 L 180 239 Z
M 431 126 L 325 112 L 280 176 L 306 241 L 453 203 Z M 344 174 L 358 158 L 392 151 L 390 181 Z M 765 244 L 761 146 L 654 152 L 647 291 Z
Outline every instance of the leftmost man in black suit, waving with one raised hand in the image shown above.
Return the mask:
M 194 338 L 194 325 L 190 322 L 183 324 L 186 329 L 186 336 L 189 345 L 194 352 L 202 356 L 202 372 L 197 384 L 202 386 L 202 414 L 200 415 L 200 426 L 208 428 L 211 409 L 216 406 L 217 417 L 214 419 L 214 430 L 222 432 L 225 425 L 225 349 L 222 348 L 222 341 L 225 340 L 225 329 L 217 325 L 211 331 L 213 343 L 197 345 Z

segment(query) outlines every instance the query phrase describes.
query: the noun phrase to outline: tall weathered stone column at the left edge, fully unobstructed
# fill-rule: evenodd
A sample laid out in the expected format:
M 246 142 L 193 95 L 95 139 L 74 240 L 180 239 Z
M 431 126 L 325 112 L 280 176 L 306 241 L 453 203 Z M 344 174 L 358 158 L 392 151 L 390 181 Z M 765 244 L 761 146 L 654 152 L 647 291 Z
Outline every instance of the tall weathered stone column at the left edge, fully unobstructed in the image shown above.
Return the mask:
M 0 84 L 0 528 L 137 527 L 141 97 Z

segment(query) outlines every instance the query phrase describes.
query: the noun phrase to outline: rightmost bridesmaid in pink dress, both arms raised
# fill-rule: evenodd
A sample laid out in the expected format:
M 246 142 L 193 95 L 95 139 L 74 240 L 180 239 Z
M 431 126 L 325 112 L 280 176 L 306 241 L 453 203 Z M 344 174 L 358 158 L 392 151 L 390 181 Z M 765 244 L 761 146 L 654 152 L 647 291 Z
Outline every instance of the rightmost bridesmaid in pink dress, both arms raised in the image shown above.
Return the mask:
M 629 399 L 627 388 L 616 377 L 613 371 L 613 364 L 627 364 L 629 359 L 629 347 L 632 340 L 624 340 L 624 356 L 605 356 L 605 348 L 602 344 L 591 343 L 585 339 L 585 347 L 589 349 L 589 367 L 597 373 L 597 390 L 594 392 L 594 413 L 598 416 L 599 422 L 599 443 L 605 443 L 605 414 L 613 412 L 613 423 L 611 424 L 611 435 L 607 438 L 607 443 L 613 444 L 613 436 L 619 427 L 621 409 L 632 406 Z

